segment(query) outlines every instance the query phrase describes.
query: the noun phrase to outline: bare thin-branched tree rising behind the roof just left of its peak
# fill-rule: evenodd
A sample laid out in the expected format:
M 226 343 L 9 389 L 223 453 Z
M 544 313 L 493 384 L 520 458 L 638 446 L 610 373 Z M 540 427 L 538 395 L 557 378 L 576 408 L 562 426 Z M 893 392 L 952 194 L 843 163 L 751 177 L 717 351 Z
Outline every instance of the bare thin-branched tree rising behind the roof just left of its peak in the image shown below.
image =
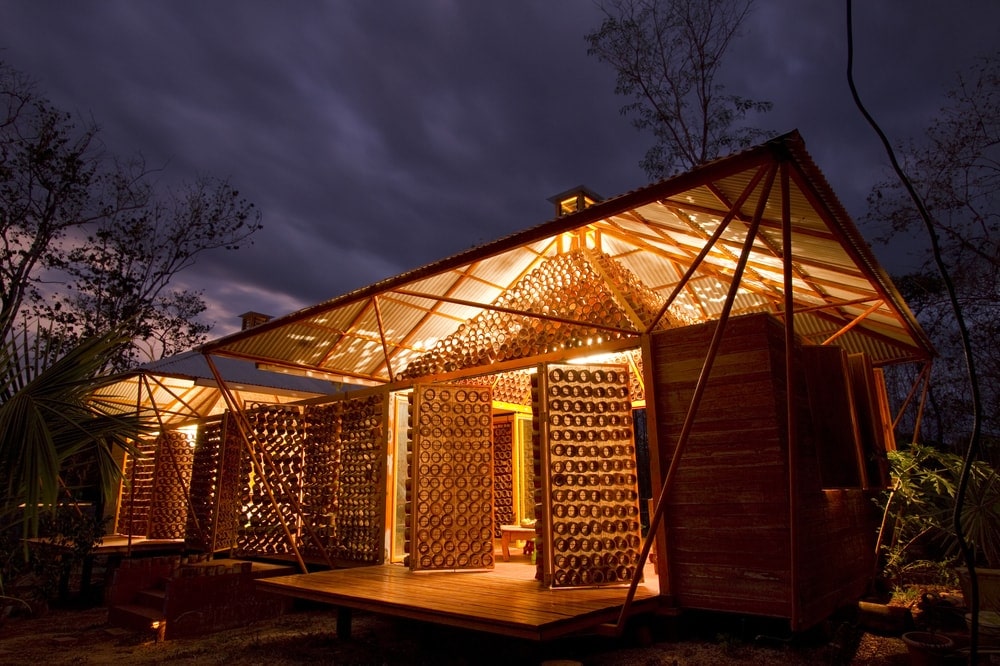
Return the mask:
M 618 72 L 622 107 L 656 143 L 641 166 L 662 178 L 746 148 L 763 136 L 741 126 L 770 102 L 728 94 L 716 77 L 753 0 L 608 0 L 588 53 Z

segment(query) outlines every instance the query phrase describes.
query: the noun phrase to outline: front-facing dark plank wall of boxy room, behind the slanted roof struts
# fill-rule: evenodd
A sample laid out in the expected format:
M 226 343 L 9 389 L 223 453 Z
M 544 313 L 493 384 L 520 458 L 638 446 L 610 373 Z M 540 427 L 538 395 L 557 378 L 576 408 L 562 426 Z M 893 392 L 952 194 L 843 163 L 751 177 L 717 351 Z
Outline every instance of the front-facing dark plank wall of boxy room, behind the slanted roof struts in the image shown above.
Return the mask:
M 661 474 L 715 326 L 653 336 Z M 727 326 L 667 496 L 667 575 L 683 607 L 790 612 L 783 338 L 780 324 L 765 315 L 734 318 Z

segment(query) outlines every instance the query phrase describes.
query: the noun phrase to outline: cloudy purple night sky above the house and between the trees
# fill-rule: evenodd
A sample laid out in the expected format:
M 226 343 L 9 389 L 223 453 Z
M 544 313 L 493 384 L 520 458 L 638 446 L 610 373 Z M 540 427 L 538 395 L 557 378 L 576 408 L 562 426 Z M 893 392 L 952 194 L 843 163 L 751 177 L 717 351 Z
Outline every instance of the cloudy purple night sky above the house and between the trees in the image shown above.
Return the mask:
M 997 49 L 1000 3 L 861 0 L 854 17 L 860 93 L 901 143 Z M 261 209 L 253 247 L 182 276 L 218 336 L 535 226 L 575 185 L 645 185 L 650 139 L 586 54 L 600 20 L 591 0 L 0 0 L 0 59 L 165 185 L 229 178 Z M 724 83 L 774 103 L 756 125 L 798 129 L 860 221 L 888 161 L 846 53 L 844 2 L 758 0 Z

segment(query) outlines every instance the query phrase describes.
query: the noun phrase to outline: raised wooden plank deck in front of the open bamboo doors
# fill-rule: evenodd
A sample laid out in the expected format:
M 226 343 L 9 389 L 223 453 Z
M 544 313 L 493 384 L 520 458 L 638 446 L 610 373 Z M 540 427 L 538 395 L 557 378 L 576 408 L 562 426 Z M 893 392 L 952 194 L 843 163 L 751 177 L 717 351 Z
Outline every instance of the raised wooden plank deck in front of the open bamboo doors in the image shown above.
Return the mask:
M 539 641 L 617 622 L 627 588 L 551 590 L 529 577 L 533 571 L 517 563 L 497 563 L 485 572 L 415 573 L 382 565 L 278 576 L 257 585 L 337 606 L 341 636 L 349 633 L 351 609 Z M 646 581 L 636 591 L 630 615 L 660 605 L 655 577 L 647 575 Z

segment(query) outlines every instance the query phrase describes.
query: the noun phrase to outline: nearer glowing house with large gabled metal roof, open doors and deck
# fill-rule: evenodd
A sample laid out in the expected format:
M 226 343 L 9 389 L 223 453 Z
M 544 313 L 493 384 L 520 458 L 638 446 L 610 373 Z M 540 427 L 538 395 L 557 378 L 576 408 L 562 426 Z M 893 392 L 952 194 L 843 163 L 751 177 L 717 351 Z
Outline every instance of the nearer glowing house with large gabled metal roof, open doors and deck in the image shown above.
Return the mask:
M 209 470 L 223 492 L 202 499 L 228 518 L 202 542 L 330 565 L 268 583 L 292 596 L 536 638 L 634 599 L 792 630 L 856 601 L 894 447 L 883 372 L 933 349 L 802 138 L 555 204 L 549 222 L 205 345 L 365 388 L 212 431 L 215 459 L 254 455 L 241 479 Z M 467 608 L 504 527 L 533 529 L 530 585 L 599 590 L 607 612 L 529 628 L 427 590 L 390 598 L 477 572 L 449 588 Z M 391 584 L 352 587 L 380 570 Z

